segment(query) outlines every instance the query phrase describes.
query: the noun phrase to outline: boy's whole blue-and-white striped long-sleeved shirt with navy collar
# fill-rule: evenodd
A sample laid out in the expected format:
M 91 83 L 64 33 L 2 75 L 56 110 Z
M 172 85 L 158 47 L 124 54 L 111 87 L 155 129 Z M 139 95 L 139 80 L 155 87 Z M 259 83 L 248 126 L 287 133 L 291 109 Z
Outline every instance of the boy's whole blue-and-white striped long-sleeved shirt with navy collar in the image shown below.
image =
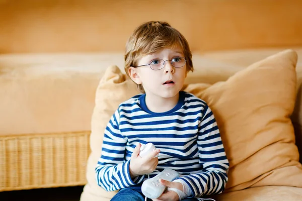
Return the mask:
M 104 134 L 96 171 L 98 184 L 107 191 L 137 185 L 147 175 L 130 177 L 133 149 L 152 142 L 160 149 L 159 164 L 152 178 L 165 168 L 181 176 L 192 197 L 221 193 L 228 181 L 229 161 L 212 111 L 200 98 L 180 91 L 177 105 L 164 113 L 153 113 L 145 94 L 122 103 L 111 117 Z

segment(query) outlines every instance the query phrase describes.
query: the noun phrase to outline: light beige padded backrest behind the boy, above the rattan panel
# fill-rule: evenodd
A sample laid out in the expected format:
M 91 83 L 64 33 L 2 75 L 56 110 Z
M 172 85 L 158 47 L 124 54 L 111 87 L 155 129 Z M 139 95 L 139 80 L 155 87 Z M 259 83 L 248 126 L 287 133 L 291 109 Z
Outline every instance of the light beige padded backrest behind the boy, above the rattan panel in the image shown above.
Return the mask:
M 242 69 L 194 54 L 187 83 L 225 80 Z M 0 55 L 0 135 L 90 131 L 95 92 L 123 53 Z M 18 126 L 15 126 L 18 125 Z

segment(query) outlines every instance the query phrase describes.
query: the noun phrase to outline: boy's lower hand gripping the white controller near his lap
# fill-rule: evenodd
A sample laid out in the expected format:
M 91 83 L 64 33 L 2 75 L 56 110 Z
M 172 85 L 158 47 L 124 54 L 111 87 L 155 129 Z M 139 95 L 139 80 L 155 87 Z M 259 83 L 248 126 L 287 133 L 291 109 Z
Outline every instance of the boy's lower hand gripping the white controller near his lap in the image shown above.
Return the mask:
M 170 188 L 177 188 L 183 191 L 183 185 L 180 182 L 171 182 L 164 179 L 160 179 L 160 182 Z M 166 190 L 161 196 L 156 199 L 152 199 L 153 201 L 178 201 L 179 196 L 173 190 Z

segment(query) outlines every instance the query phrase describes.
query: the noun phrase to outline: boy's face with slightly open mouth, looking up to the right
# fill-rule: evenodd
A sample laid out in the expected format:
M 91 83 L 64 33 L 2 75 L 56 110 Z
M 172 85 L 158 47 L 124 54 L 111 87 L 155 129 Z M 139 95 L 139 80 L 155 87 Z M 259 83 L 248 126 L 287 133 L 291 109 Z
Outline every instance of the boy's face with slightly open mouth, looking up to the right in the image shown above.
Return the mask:
M 137 66 L 149 64 L 157 64 L 159 59 L 165 61 L 165 66 L 160 70 L 153 70 L 149 65 L 141 67 L 131 67 L 129 74 L 134 82 L 142 84 L 147 96 L 171 98 L 175 97 L 182 89 L 186 78 L 186 65 L 182 67 L 174 67 L 171 64 L 173 60 L 175 65 L 181 61 L 180 57 L 184 57 L 180 48 L 163 49 L 154 54 L 146 55 L 138 60 Z M 131 72 L 132 71 L 132 72 Z

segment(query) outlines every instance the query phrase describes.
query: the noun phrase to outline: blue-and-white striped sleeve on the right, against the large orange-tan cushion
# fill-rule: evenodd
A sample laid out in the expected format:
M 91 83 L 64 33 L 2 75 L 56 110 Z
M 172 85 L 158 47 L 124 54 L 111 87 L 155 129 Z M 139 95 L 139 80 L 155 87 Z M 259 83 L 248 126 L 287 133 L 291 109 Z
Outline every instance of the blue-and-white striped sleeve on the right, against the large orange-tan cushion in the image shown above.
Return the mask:
M 190 197 L 221 193 L 228 181 L 229 161 L 226 158 L 216 120 L 210 108 L 205 105 L 199 124 L 197 139 L 200 173 L 184 175 L 174 181 L 186 183 Z

